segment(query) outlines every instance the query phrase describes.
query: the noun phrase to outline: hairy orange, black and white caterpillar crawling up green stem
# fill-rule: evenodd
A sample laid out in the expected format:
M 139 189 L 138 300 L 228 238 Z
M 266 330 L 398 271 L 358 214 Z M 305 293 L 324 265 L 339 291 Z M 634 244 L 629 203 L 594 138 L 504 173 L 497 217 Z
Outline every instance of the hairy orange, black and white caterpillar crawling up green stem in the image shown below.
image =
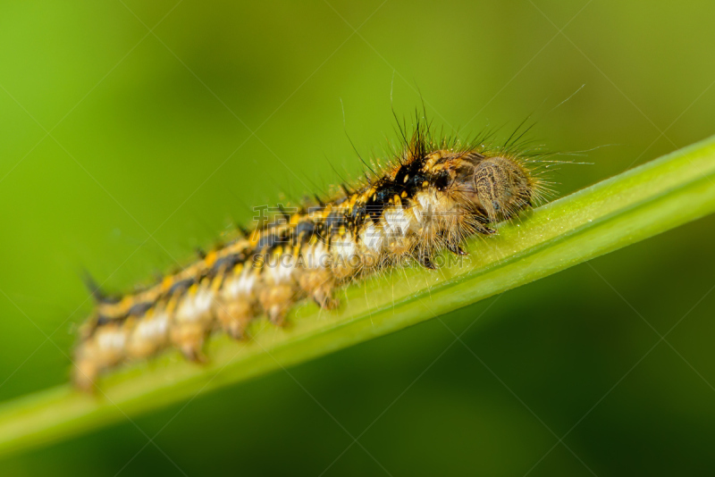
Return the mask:
M 146 289 L 108 297 L 92 287 L 97 305 L 80 329 L 75 385 L 91 390 L 102 372 L 170 347 L 202 361 L 214 331 L 243 339 L 259 316 L 281 326 L 299 300 L 332 309 L 335 290 L 352 281 L 408 264 L 435 268 L 436 254 L 466 255 L 465 238 L 494 234 L 490 225 L 548 191 L 539 153 L 516 139 L 435 139 L 419 117 L 411 134 L 398 125 L 388 163 L 332 198 L 281 208 Z

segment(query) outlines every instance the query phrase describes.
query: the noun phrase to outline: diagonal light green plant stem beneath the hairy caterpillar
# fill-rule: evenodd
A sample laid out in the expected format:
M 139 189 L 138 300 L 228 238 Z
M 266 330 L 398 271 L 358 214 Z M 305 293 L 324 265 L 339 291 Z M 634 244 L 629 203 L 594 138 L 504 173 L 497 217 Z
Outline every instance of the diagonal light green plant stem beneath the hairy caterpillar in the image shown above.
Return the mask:
M 715 138 L 545 205 L 439 271 L 408 269 L 350 287 L 337 312 L 301 305 L 290 326 L 260 321 L 253 339 L 216 337 L 210 363 L 161 356 L 107 376 L 97 396 L 63 385 L 0 406 L 0 453 L 68 439 L 248 380 L 538 280 L 715 211 Z M 446 255 L 444 255 L 446 257 Z

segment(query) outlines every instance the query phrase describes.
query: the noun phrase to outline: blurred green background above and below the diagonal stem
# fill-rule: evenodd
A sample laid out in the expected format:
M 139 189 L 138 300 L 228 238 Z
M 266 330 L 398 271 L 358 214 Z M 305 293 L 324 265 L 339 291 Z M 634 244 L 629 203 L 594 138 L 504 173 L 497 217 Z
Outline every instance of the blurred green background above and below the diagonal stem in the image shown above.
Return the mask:
M 130 289 L 251 205 L 356 176 L 344 128 L 381 155 L 391 90 L 400 115 L 421 92 L 462 137 L 534 113 L 540 144 L 596 148 L 554 172 L 561 196 L 710 136 L 713 15 L 704 0 L 3 2 L 0 400 L 67 381 L 82 268 Z M 299 365 L 300 385 L 275 372 L 0 473 L 712 474 L 713 232 L 705 218 L 447 315 L 478 357 L 425 322 Z

